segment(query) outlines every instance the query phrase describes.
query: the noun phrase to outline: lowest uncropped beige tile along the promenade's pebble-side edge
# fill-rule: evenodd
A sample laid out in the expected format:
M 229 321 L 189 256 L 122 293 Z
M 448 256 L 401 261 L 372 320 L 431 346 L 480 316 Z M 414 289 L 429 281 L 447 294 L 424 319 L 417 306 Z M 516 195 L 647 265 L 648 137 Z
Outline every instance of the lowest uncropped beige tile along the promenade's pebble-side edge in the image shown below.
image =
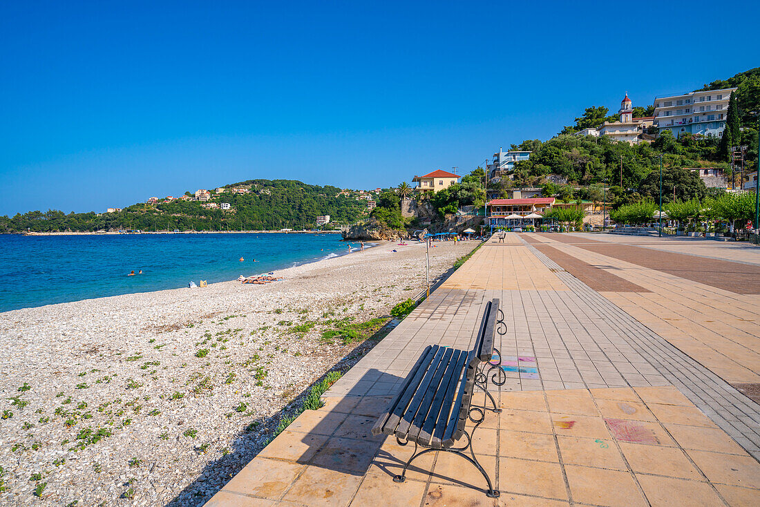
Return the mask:
M 301 473 L 303 467 L 302 464 L 287 461 L 254 458 L 229 483 L 226 483 L 224 490 L 229 493 L 279 499 Z

